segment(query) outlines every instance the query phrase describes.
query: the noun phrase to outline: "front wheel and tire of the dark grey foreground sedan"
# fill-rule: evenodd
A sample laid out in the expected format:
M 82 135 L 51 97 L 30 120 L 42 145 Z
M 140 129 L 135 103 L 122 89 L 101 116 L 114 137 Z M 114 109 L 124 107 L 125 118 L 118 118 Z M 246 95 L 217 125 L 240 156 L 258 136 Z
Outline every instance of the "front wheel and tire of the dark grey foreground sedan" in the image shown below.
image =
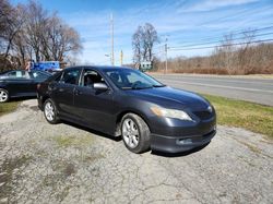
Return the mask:
M 134 113 L 127 113 L 121 120 L 121 136 L 126 147 L 136 154 L 150 149 L 150 129 L 145 121 Z

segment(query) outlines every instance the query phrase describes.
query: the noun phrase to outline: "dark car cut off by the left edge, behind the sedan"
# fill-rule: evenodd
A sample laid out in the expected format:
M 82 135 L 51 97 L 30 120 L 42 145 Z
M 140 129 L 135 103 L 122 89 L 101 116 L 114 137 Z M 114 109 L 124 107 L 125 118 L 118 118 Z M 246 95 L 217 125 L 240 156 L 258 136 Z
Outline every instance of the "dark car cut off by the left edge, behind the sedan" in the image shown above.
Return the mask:
M 13 97 L 36 96 L 37 84 L 44 82 L 50 73 L 33 70 L 11 70 L 0 74 L 0 103 Z

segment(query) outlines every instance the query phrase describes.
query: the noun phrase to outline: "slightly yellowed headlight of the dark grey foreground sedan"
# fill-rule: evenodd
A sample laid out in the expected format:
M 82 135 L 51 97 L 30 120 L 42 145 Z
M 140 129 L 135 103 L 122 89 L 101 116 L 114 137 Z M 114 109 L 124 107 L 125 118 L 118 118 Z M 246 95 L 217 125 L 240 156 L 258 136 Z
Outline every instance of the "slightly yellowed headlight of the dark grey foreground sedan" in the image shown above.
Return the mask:
M 168 109 L 168 108 L 162 108 L 162 107 L 151 107 L 150 108 L 152 110 L 152 112 L 158 117 L 166 117 L 166 118 L 176 118 L 179 120 L 190 120 L 193 121 L 191 119 L 191 117 L 182 111 L 182 110 L 176 110 L 176 109 Z

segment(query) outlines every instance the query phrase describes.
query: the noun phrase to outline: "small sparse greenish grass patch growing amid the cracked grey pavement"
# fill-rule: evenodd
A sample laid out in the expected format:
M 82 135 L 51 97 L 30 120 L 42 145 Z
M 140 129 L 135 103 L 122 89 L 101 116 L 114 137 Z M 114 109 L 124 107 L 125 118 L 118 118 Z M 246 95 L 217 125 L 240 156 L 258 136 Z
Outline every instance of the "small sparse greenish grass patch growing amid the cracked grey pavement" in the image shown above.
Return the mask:
M 69 147 L 69 146 L 86 146 L 93 143 L 92 136 L 82 135 L 82 136 L 72 136 L 72 135 L 57 135 L 54 136 L 52 140 L 61 147 Z

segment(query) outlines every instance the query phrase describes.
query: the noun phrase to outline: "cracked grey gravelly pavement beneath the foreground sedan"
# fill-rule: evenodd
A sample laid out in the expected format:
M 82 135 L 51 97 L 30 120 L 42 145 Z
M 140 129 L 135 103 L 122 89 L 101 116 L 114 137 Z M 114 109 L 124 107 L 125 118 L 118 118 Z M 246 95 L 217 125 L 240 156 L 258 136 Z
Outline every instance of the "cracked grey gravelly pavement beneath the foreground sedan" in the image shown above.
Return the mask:
M 0 117 L 0 203 L 272 203 L 273 143 L 218 127 L 206 147 L 132 154 L 122 141 L 48 124 L 36 100 Z

